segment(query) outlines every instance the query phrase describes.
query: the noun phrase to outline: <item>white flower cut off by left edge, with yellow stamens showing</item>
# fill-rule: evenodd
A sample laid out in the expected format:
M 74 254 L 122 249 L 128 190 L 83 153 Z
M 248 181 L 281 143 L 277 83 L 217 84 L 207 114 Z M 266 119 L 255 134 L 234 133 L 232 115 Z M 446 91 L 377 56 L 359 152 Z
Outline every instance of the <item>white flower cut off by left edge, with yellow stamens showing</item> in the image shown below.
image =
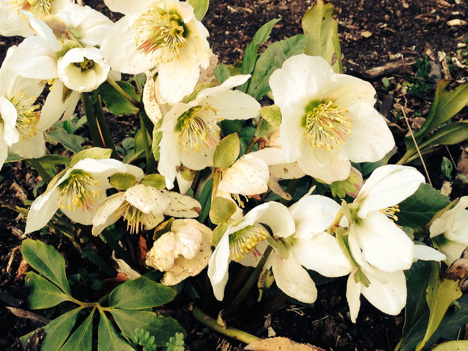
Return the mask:
M 24 78 L 12 71 L 12 55 L 16 49 L 16 46 L 8 49 L 0 68 L 0 168 L 8 149 L 28 159 L 45 155 L 43 132 L 60 118 L 51 109 L 54 101 L 50 96 L 41 112 L 37 98 L 44 84 L 40 80 Z

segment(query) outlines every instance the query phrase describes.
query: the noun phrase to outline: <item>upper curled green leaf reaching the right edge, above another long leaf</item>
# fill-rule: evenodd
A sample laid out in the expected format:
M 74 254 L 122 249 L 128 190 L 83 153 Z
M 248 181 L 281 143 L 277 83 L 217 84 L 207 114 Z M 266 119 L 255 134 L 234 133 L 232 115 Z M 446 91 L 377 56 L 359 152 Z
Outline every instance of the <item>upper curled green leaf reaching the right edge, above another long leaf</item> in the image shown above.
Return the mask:
M 436 93 L 432 108 L 423 126 L 414 133 L 417 142 L 423 139 L 424 135 L 447 122 L 468 104 L 468 82 L 458 85 L 455 89 L 450 89 L 451 80 L 441 79 L 437 82 Z M 410 138 L 407 138 L 410 139 Z

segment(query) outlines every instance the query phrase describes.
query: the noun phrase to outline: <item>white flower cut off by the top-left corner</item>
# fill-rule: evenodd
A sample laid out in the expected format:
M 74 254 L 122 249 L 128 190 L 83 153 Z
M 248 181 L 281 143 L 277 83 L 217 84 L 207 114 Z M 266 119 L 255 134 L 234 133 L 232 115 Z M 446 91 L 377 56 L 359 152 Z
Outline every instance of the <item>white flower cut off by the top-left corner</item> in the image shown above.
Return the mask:
M 36 19 L 57 14 L 73 0 L 0 0 L 0 35 L 31 36 L 27 16 L 21 10 L 31 12 Z

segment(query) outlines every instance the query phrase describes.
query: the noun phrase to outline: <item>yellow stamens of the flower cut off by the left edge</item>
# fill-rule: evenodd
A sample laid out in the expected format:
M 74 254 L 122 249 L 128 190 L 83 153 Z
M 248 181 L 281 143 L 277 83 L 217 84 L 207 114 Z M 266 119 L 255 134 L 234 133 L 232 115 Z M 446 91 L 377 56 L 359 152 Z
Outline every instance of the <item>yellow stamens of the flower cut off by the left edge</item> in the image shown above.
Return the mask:
M 18 113 L 16 117 L 16 130 L 21 140 L 27 141 L 37 135 L 36 124 L 39 122 L 40 111 L 36 98 L 29 98 L 25 91 L 19 91 L 10 99 Z

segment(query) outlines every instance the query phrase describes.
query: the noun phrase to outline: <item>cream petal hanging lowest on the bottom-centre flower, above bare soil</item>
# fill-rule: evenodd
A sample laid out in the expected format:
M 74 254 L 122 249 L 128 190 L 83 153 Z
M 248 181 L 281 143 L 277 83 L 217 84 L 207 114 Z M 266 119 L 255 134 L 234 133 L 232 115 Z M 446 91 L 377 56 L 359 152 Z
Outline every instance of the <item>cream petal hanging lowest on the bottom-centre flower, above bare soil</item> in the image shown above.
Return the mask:
M 305 304 L 312 304 L 317 299 L 317 288 L 309 273 L 290 252 L 288 258 L 281 259 L 278 255 L 272 258 L 274 281 L 286 295 L 298 299 Z

